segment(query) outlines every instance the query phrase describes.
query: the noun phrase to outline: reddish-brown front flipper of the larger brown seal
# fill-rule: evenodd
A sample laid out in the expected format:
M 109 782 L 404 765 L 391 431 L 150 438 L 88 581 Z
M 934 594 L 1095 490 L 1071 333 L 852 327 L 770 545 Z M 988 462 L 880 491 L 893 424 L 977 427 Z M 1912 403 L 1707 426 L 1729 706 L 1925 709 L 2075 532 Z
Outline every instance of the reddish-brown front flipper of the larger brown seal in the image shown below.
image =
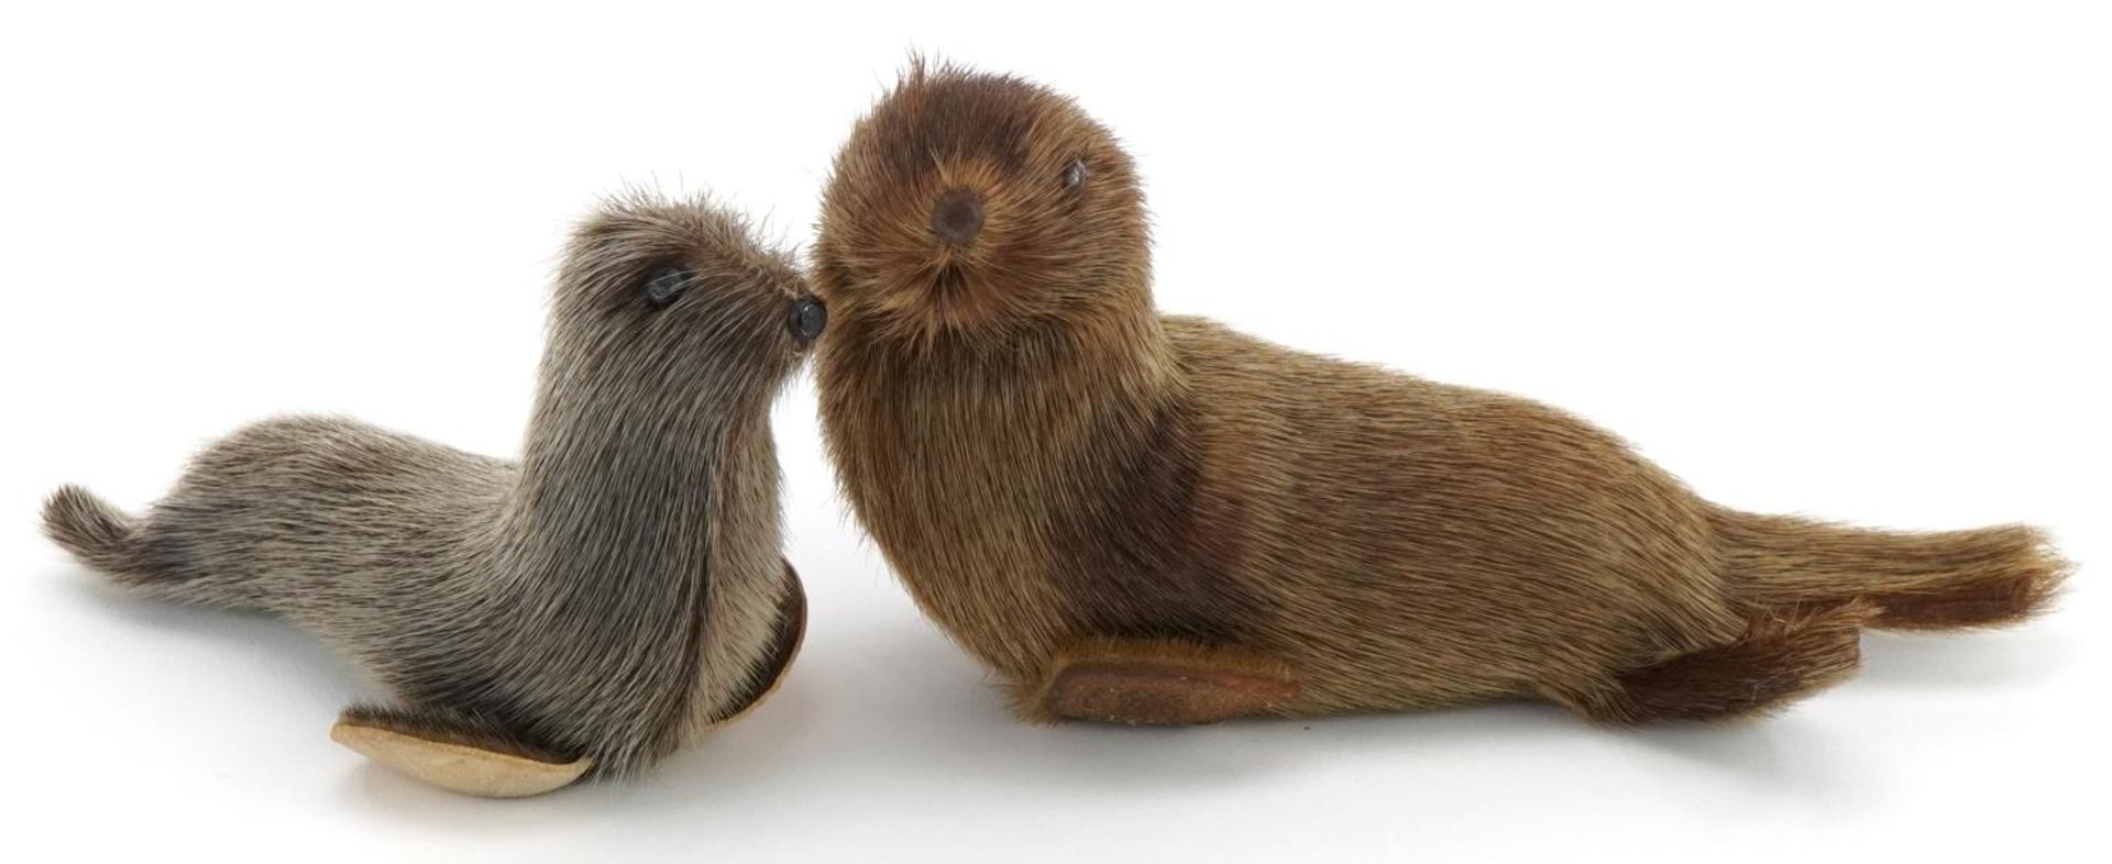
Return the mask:
M 1231 646 L 1094 638 L 1050 663 L 1029 720 L 1178 727 L 1274 714 L 1299 697 L 1290 665 Z

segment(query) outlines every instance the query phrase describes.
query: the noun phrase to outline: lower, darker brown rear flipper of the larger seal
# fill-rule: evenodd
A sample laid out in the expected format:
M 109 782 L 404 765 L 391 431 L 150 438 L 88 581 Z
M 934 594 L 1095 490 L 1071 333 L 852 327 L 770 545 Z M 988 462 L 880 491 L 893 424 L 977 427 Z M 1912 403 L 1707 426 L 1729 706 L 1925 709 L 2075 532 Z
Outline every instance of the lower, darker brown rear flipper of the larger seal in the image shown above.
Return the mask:
M 1736 642 L 1630 670 L 1548 697 L 1599 722 L 1730 720 L 1766 714 L 1848 678 L 1861 661 L 1867 604 L 1757 619 Z

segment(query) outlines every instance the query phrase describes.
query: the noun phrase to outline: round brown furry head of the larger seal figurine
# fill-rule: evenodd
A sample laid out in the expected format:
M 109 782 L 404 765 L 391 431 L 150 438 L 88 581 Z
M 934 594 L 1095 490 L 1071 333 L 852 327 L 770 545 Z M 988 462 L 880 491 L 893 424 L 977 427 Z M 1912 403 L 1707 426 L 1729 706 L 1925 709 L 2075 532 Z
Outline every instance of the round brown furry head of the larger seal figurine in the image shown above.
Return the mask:
M 923 61 L 836 156 L 815 247 L 830 302 L 917 336 L 1149 306 L 1149 266 L 1113 133 L 1020 78 Z

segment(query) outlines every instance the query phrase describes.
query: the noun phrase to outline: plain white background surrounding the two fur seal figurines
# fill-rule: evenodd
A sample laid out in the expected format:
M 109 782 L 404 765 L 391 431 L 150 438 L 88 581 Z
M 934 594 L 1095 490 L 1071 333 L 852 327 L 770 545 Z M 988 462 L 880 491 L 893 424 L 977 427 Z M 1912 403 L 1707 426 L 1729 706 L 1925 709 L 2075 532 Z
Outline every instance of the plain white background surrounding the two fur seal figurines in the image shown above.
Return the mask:
M 2104 860 L 2101 2 L 194 6 L 0 13 L 0 858 Z M 488 803 L 334 746 L 372 693 L 302 634 L 36 534 L 55 484 L 139 507 L 275 412 L 515 452 L 568 224 L 712 188 L 805 245 L 912 46 L 1119 131 L 1168 311 L 1571 408 L 1738 507 L 2028 520 L 2085 566 L 1755 725 L 1031 729 L 849 520 L 803 380 L 784 693 L 644 782 Z

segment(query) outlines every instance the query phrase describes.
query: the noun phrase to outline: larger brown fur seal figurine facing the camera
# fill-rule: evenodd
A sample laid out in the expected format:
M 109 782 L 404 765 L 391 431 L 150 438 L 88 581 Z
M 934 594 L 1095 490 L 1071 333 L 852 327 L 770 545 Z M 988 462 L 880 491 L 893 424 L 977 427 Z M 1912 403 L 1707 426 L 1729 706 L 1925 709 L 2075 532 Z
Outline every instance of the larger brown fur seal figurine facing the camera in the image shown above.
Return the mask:
M 1740 513 L 1559 410 L 1162 317 L 1130 158 L 1010 76 L 919 63 L 857 123 L 813 277 L 843 488 L 1029 720 L 1726 718 L 2063 575 L 2032 528 Z

